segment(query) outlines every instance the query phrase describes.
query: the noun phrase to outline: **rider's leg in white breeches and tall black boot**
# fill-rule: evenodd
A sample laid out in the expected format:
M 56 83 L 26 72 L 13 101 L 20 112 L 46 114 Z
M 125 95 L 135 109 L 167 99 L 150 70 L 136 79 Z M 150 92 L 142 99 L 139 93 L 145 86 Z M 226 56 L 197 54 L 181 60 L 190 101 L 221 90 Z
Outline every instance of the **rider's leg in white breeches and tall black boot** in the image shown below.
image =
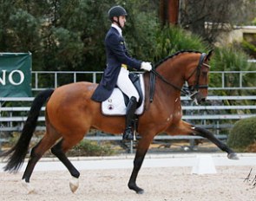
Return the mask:
M 118 76 L 116 85 L 121 91 L 128 95 L 129 102 L 126 113 L 126 126 L 122 136 L 122 139 L 132 140 L 134 139 L 134 134 L 132 132 L 132 121 L 135 116 L 135 110 L 137 108 L 137 102 L 139 101 L 139 94 L 130 79 L 128 78 L 128 70 L 121 68 L 120 74 Z

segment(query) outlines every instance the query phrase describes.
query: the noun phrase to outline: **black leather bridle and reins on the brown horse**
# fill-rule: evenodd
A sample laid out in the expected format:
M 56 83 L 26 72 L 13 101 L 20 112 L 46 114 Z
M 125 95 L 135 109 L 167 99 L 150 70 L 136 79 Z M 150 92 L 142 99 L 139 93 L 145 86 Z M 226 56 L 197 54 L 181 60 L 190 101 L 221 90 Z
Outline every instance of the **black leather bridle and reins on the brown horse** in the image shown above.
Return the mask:
M 200 61 L 197 65 L 197 68 L 194 69 L 193 73 L 191 75 L 188 76 L 187 81 L 192 77 L 192 75 L 194 75 L 194 73 L 197 73 L 197 81 L 196 84 L 193 86 L 196 90 L 193 94 L 190 93 L 190 90 L 188 88 L 179 88 L 176 85 L 174 85 L 173 83 L 171 83 L 170 81 L 167 81 L 167 79 L 165 79 L 162 75 L 160 75 L 158 72 L 156 72 L 155 68 L 152 68 L 151 72 L 150 72 L 150 79 L 149 79 L 149 86 L 150 86 L 150 90 L 149 90 L 149 100 L 150 102 L 153 101 L 153 96 L 154 96 L 154 83 L 155 83 L 155 77 L 159 77 L 161 81 L 165 82 L 167 85 L 172 86 L 173 88 L 181 91 L 182 93 L 186 94 L 186 95 L 190 95 L 193 96 L 194 94 L 197 94 L 198 89 L 199 88 L 208 88 L 208 85 L 199 85 L 199 80 L 200 80 L 200 68 L 202 67 L 202 65 L 206 65 L 207 67 L 209 67 L 209 65 L 203 63 L 204 59 L 206 57 L 206 53 L 202 53 L 200 55 Z

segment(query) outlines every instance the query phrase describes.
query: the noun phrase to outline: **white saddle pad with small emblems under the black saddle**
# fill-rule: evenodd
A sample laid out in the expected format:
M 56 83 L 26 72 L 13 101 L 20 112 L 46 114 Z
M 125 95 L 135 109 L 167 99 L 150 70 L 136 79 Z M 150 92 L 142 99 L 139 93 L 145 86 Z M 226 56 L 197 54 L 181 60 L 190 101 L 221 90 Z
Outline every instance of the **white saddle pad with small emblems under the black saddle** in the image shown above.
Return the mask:
M 139 108 L 135 111 L 137 115 L 140 115 L 144 111 L 144 100 L 145 100 L 145 86 L 143 75 L 140 75 L 141 90 L 142 90 L 142 103 Z M 115 88 L 110 97 L 102 102 L 102 113 L 105 115 L 125 115 L 126 105 L 124 102 L 123 94 L 119 88 Z

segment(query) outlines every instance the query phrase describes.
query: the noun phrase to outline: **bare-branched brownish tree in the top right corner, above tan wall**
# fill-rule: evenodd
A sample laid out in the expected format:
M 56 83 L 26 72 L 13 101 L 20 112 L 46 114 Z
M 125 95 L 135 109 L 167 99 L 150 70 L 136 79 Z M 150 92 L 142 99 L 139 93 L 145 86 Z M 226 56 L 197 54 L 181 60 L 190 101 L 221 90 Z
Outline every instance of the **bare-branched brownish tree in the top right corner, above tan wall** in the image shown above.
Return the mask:
M 183 0 L 181 26 L 213 43 L 220 31 L 252 20 L 255 3 L 251 0 Z

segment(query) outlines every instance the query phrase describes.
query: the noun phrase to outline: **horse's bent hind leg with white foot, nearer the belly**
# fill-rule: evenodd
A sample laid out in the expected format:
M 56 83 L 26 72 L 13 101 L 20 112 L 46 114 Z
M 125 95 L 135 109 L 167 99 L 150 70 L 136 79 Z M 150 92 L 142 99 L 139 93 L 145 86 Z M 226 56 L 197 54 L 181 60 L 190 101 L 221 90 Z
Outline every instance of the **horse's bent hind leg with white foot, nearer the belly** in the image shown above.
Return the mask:
M 83 135 L 82 135 L 83 136 Z M 65 152 L 67 152 L 72 146 L 75 146 L 82 138 L 79 139 L 73 139 L 67 140 L 67 139 L 62 139 L 59 141 L 56 146 L 53 146 L 51 148 L 51 152 L 56 155 L 58 159 L 62 161 L 62 164 L 65 165 L 70 174 L 72 175 L 72 179 L 69 182 L 69 187 L 72 192 L 75 192 L 76 189 L 78 188 L 78 178 L 80 176 L 80 172 L 78 172 L 75 168 L 74 165 L 70 162 L 70 160 L 67 158 Z

